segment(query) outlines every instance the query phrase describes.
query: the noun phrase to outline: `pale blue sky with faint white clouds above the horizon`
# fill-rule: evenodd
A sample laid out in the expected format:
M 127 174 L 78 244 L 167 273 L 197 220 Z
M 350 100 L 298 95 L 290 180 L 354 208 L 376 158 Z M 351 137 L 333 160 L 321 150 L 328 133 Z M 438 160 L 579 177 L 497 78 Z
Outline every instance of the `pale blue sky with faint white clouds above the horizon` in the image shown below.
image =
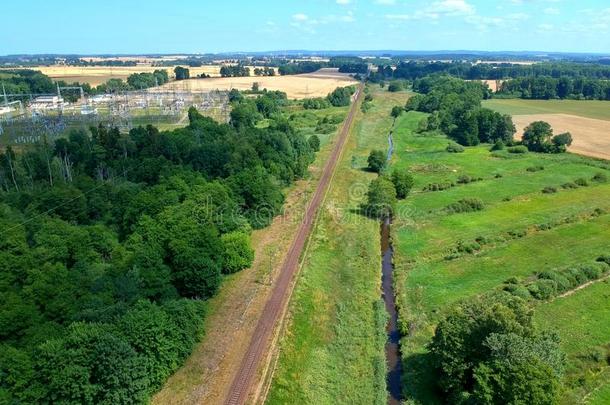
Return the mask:
M 610 53 L 608 0 L 26 0 L 0 55 L 272 50 Z

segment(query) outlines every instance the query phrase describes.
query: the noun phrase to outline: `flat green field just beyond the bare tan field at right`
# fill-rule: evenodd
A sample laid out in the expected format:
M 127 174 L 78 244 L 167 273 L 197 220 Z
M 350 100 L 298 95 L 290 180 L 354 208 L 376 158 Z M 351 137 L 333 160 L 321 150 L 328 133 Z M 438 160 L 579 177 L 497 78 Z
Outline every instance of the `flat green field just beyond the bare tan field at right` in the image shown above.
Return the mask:
M 600 100 L 522 100 L 491 99 L 483 101 L 483 107 L 502 114 L 570 114 L 581 117 L 610 120 L 610 102 Z

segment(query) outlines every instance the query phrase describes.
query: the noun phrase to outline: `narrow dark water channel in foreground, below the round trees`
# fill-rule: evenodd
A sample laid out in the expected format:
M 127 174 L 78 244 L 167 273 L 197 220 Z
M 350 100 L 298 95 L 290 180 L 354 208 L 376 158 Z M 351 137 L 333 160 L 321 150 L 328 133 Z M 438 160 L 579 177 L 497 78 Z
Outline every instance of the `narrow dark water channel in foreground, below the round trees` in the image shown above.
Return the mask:
M 398 312 L 396 311 L 396 300 L 394 296 L 394 266 L 392 255 L 394 249 L 390 243 L 391 219 L 386 218 L 381 222 L 381 288 L 385 308 L 390 315 L 386 332 L 388 340 L 385 346 L 388 375 L 386 378 L 388 386 L 388 404 L 398 405 L 401 399 L 400 376 L 402 364 L 400 361 L 400 332 L 398 330 Z

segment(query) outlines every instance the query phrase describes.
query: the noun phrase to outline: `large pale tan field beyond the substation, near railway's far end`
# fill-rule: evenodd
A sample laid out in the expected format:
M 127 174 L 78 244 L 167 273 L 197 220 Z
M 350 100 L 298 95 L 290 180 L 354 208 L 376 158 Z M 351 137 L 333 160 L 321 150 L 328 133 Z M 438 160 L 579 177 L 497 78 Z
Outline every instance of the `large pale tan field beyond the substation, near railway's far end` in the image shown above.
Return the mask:
M 337 87 L 355 85 L 357 82 L 347 74 L 315 72 L 303 75 L 270 77 L 213 77 L 210 79 L 189 79 L 167 83 L 155 91 L 211 91 L 211 90 L 250 90 L 253 83 L 261 89 L 280 90 L 290 99 L 326 97 Z

